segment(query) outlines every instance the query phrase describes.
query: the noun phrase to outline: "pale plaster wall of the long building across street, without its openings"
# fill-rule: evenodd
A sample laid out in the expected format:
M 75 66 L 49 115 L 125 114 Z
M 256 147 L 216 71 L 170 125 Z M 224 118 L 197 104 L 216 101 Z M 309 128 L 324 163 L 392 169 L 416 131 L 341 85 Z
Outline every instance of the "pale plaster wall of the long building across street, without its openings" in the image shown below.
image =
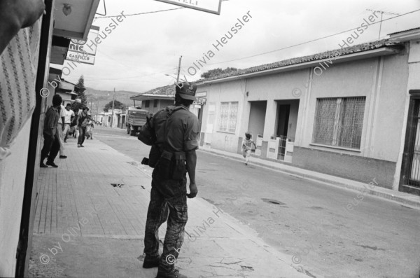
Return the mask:
M 401 127 L 404 123 L 407 59 L 407 52 L 402 50 L 397 55 L 335 62 L 319 76 L 313 74 L 312 69 L 300 69 L 240 81 L 202 85 L 208 92 L 207 103 L 216 105 L 211 131 L 207 129 L 209 106 L 206 105 L 202 132 L 209 133 L 207 137 L 211 137 L 212 147 L 236 152 L 238 137 L 243 137 L 243 133 L 248 130 L 250 102 L 267 101 L 263 137 L 267 141 L 276 131 L 276 100 L 299 99 L 295 146 L 397 162 Z M 299 88 L 300 95 L 293 93 L 295 88 Z M 311 144 L 316 99 L 321 97 L 366 98 L 360 150 Z M 233 101 L 239 101 L 237 130 L 235 134 L 218 132 L 221 102 Z M 296 107 L 293 109 L 295 111 Z

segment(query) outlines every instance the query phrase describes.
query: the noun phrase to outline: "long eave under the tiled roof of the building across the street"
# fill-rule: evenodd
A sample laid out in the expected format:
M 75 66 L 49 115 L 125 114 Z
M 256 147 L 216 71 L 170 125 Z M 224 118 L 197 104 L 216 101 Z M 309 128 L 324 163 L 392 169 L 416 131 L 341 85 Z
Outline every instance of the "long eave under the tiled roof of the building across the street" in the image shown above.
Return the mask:
M 314 67 L 315 65 L 321 64 L 322 62 L 326 61 L 333 61 L 333 63 L 337 62 L 347 62 L 347 61 L 353 61 L 353 60 L 360 60 L 364 58 L 370 58 L 370 57 L 377 57 L 377 56 L 383 56 L 383 55 L 393 55 L 396 53 L 399 53 L 400 49 L 397 48 L 391 48 L 391 47 L 384 47 L 384 48 L 377 48 L 374 50 L 367 50 L 363 52 L 358 53 L 351 53 L 342 55 L 339 57 L 330 57 L 328 59 L 321 59 L 321 60 L 314 60 L 310 62 L 303 62 L 300 64 L 291 64 L 290 66 L 284 66 L 284 67 L 277 67 L 274 69 L 266 69 L 264 71 L 255 71 L 249 74 L 239 74 L 237 76 L 229 76 L 225 78 L 218 78 L 211 81 L 202 81 L 200 83 L 196 83 L 197 85 L 204 85 L 204 84 L 211 84 L 211 83 L 221 83 L 221 82 L 228 82 L 228 81 L 234 81 L 239 80 L 243 78 L 249 78 L 249 77 L 256 77 L 256 76 L 265 76 L 268 74 L 277 74 L 284 71 L 294 71 L 297 69 L 304 69 L 308 67 Z

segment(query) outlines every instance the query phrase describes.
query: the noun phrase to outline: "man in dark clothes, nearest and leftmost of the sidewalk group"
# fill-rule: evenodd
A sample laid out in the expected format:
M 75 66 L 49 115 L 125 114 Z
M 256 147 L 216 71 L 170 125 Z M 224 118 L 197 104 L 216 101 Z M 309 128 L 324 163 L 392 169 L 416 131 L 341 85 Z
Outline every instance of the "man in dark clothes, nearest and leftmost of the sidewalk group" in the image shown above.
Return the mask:
M 47 168 L 47 165 L 52 167 L 58 167 L 55 165 L 54 160 L 59 151 L 59 137 L 57 132 L 58 125 L 58 108 L 62 103 L 62 97 L 59 95 L 54 95 L 52 97 L 52 106 L 45 113 L 44 127 L 43 127 L 43 137 L 44 144 L 41 150 L 41 164 L 43 168 Z M 48 155 L 49 153 L 49 155 Z M 48 157 L 47 162 L 44 164 L 45 158 Z

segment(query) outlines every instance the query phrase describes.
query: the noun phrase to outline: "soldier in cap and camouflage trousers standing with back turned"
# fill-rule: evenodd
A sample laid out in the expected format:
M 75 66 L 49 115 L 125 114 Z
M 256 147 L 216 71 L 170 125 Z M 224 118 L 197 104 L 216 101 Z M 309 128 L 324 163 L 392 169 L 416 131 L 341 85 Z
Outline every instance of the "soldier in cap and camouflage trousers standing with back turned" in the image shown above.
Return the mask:
M 152 174 L 151 201 L 144 235 L 144 268 L 159 267 L 156 278 L 186 278 L 175 269 L 188 220 L 187 197 L 197 195 L 195 165 L 198 148 L 198 119 L 188 111 L 195 100 L 197 86 L 176 85 L 175 106 L 155 113 L 151 120 L 160 155 Z M 187 194 L 187 177 L 190 193 Z M 167 221 L 167 232 L 159 256 L 159 228 Z

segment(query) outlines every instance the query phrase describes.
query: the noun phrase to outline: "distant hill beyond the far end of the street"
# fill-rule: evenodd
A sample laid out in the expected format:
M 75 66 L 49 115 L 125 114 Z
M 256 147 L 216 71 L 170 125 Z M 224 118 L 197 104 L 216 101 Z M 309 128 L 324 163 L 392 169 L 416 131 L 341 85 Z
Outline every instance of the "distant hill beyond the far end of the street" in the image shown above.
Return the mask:
M 113 91 L 104 91 L 104 90 L 96 90 L 93 88 L 86 88 L 85 95 L 87 97 L 87 104 L 90 108 L 89 102 L 92 102 L 92 110 L 96 111 L 99 104 L 99 111 L 104 109 L 105 104 L 109 103 L 113 99 Z M 123 102 L 123 104 L 127 104 L 133 106 L 134 103 L 130 99 L 130 97 L 134 95 L 139 95 L 139 92 L 130 92 L 130 91 L 116 91 L 116 100 Z M 136 101 L 136 106 L 141 102 Z

